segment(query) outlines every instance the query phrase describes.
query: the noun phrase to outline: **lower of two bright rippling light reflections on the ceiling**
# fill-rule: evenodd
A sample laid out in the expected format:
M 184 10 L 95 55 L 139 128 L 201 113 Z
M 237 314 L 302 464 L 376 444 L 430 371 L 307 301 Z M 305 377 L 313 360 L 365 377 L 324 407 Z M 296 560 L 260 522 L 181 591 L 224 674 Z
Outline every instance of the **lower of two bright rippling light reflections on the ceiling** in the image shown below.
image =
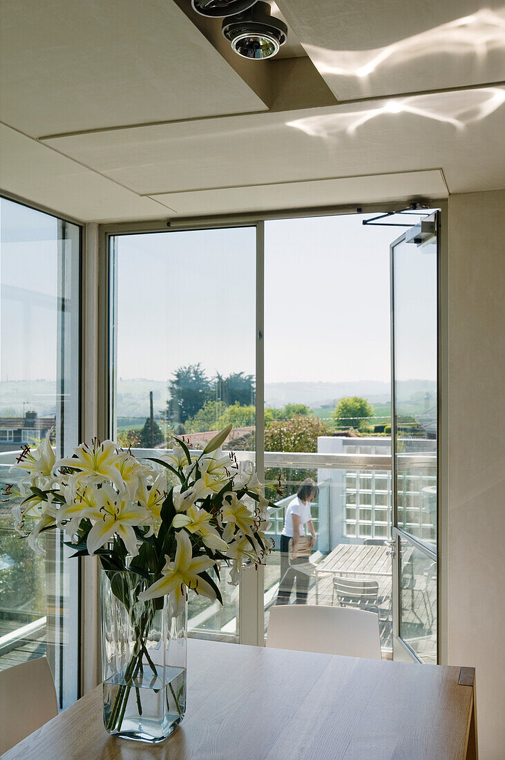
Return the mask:
M 358 127 L 377 116 L 393 116 L 411 113 L 424 119 L 445 122 L 457 129 L 463 129 L 472 122 L 479 122 L 505 103 L 505 89 L 501 87 L 479 87 L 476 90 L 454 90 L 453 92 L 413 95 L 373 106 L 354 106 L 348 111 L 339 108 L 333 113 L 308 116 L 286 122 L 289 127 L 301 129 L 312 137 L 329 138 L 345 132 L 354 135 Z M 338 106 L 337 106 L 338 108 Z

